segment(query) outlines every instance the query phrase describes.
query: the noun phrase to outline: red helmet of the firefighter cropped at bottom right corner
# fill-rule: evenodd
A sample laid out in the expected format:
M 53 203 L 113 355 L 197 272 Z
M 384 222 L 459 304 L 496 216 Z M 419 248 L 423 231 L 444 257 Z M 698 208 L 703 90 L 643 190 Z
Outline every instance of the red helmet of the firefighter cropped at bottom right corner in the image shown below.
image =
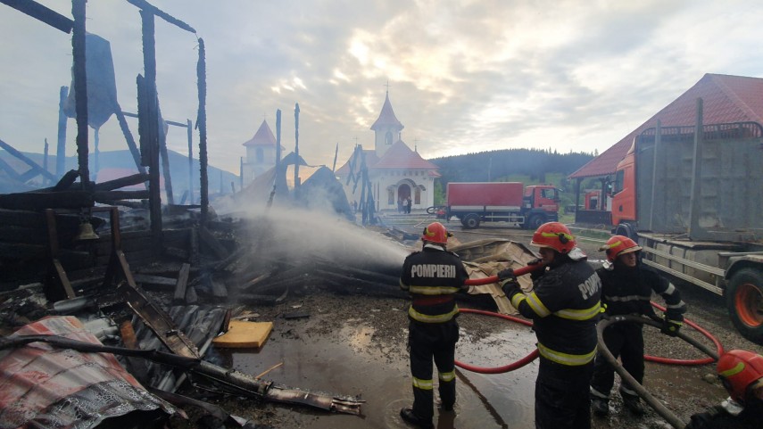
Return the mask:
M 731 398 L 743 404 L 747 389 L 763 379 L 763 356 L 751 351 L 728 351 L 718 359 L 716 370 Z

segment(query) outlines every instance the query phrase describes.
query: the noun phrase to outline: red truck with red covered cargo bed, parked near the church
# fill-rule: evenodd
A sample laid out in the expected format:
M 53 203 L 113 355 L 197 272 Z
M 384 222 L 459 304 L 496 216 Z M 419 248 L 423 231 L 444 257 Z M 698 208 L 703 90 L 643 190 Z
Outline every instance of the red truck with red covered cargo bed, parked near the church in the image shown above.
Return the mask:
M 535 229 L 559 220 L 559 189 L 521 182 L 448 183 L 440 217 L 460 220 L 465 228 L 482 222 L 511 222 Z

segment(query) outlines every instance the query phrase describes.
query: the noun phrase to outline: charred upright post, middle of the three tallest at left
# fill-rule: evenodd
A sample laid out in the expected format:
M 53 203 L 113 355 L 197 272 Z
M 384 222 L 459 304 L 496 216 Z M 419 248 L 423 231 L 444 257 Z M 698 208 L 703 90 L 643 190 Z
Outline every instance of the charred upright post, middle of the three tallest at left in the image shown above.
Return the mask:
M 149 147 L 148 153 L 148 199 L 151 218 L 153 252 L 162 252 L 162 195 L 159 190 L 159 111 L 156 101 L 156 46 L 154 42 L 153 13 L 140 11 L 143 23 L 143 63 L 145 70 L 145 109 L 139 113 L 139 120 L 145 120 L 144 140 L 141 136 L 141 151 Z M 145 145 L 144 145 L 145 143 Z M 145 157 L 145 155 L 144 155 Z M 144 159 L 144 164 L 145 164 Z

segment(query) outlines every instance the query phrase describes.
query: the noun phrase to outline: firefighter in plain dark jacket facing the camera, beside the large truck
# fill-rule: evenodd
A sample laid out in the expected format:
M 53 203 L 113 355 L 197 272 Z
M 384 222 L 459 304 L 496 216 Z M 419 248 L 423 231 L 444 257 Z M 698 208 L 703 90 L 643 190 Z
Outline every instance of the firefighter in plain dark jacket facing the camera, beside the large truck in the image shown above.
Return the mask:
M 658 293 L 667 304 L 662 332 L 676 336 L 686 311 L 676 286 L 657 273 L 643 269 L 639 261 L 641 247 L 624 235 L 613 235 L 600 250 L 607 254 L 604 266 L 596 270 L 601 278 L 604 317 L 632 314 L 656 318 L 650 300 L 652 292 Z M 626 371 L 643 384 L 643 324 L 624 322 L 607 326 L 602 337 L 612 355 L 619 357 Z M 614 383 L 615 369 L 599 353 L 591 380 L 593 414 L 606 416 L 610 412 L 610 391 Z M 643 415 L 643 405 L 633 387 L 622 383 L 619 391 L 625 408 L 636 416 Z

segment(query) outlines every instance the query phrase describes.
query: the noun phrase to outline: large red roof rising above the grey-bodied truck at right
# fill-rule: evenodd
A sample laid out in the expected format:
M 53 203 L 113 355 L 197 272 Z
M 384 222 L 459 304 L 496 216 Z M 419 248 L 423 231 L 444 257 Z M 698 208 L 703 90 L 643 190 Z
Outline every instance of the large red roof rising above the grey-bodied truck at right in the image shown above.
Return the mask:
M 596 177 L 614 174 L 619 161 L 646 128 L 691 126 L 696 119 L 697 98 L 703 102 L 705 124 L 755 121 L 763 124 L 763 78 L 747 78 L 707 73 L 673 103 L 665 106 L 639 128 L 589 161 L 569 178 Z

